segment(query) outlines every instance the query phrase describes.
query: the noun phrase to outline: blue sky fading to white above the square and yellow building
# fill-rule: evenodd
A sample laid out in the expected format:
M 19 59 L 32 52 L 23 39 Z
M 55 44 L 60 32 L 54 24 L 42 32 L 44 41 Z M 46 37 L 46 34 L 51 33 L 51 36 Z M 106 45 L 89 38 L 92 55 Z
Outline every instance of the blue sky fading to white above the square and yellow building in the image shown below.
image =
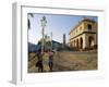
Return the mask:
M 33 13 L 33 16 L 27 14 L 27 18 L 31 22 L 31 28 L 28 29 L 28 42 L 37 44 L 41 35 L 41 22 L 43 16 L 46 16 L 47 24 L 45 27 L 45 35 L 50 36 L 52 33 L 52 40 L 63 42 L 63 34 L 65 34 L 65 40 L 69 42 L 69 33 L 73 27 L 81 22 L 84 17 L 92 18 L 97 22 L 97 16 L 86 15 L 60 15 L 60 14 L 37 14 Z

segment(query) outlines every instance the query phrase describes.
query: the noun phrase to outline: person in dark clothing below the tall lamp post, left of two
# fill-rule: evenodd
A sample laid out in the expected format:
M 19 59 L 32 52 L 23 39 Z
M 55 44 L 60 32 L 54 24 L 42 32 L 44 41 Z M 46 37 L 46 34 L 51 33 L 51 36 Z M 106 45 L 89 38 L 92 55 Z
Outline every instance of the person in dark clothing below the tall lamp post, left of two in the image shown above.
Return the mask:
M 37 59 L 38 59 L 38 61 L 36 62 L 36 66 L 38 67 L 38 72 L 44 72 L 44 65 L 43 65 L 44 53 L 41 52 L 40 49 L 38 50 L 36 55 L 37 55 Z

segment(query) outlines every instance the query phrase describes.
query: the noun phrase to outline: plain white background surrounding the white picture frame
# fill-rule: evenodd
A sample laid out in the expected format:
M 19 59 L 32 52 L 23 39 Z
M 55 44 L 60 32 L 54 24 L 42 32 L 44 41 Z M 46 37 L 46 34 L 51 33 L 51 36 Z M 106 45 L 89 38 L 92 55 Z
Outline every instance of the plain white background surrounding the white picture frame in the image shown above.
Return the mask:
M 107 58 L 106 62 L 106 78 L 99 79 L 80 79 L 71 80 L 66 83 L 50 83 L 50 84 L 33 84 L 23 85 L 24 87 L 109 87 L 109 2 L 108 0 L 1 0 L 0 1 L 0 87 L 15 87 L 11 84 L 12 76 L 12 2 L 14 1 L 36 1 L 41 5 L 55 5 L 55 7 L 73 7 L 74 4 L 87 5 L 87 7 L 104 7 L 107 10 L 105 14 L 106 24 L 102 28 L 105 36 L 101 44 L 101 48 L 105 51 L 104 57 Z M 102 57 L 102 59 L 104 59 Z M 20 87 L 23 87 L 20 86 Z

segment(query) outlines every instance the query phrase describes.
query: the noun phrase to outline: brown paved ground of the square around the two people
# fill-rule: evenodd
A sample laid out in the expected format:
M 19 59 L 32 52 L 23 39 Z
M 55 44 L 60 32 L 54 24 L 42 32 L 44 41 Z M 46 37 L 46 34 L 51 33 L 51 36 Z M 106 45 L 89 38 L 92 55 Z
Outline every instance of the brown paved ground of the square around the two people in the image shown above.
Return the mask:
M 48 55 L 45 53 L 43 58 L 44 72 L 49 72 Z M 37 73 L 35 63 L 37 58 L 35 57 L 28 62 L 28 73 Z M 97 70 L 97 52 L 85 51 L 85 52 L 72 52 L 62 51 L 57 52 L 53 57 L 53 72 L 62 71 L 83 71 L 83 70 Z

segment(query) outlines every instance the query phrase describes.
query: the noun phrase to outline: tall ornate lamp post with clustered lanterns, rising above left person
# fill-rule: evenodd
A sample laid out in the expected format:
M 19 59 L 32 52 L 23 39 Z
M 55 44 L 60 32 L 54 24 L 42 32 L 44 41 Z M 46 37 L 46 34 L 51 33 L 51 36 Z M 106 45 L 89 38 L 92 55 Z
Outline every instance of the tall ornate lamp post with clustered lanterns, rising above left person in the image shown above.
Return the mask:
M 47 24 L 46 16 L 43 16 L 43 18 L 40 20 L 40 22 L 41 22 L 41 27 L 43 27 L 43 29 L 41 29 L 41 35 L 43 35 L 41 52 L 44 52 L 44 46 L 45 46 L 45 44 L 44 44 L 44 36 L 45 36 L 45 27 L 46 27 L 46 24 Z

